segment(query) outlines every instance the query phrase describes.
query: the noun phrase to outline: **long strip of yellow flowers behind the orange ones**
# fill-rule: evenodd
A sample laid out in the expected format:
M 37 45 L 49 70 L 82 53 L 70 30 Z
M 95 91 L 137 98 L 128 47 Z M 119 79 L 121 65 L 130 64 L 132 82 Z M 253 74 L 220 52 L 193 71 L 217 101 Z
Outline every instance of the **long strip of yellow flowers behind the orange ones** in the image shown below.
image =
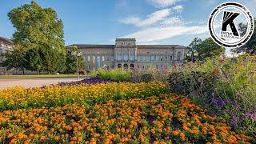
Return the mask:
M 70 103 L 94 105 L 121 98 L 141 98 L 169 91 L 166 82 L 108 82 L 94 85 L 46 86 L 25 89 L 14 87 L 0 90 L 0 111 L 41 106 L 64 106 Z

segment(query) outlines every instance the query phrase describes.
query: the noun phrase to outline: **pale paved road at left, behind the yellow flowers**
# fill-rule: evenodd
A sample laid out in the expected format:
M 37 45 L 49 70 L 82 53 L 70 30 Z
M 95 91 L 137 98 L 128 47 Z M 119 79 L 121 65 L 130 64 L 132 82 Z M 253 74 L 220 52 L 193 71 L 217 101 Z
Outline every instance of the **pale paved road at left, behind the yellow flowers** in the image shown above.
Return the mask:
M 26 88 L 35 86 L 48 86 L 58 82 L 77 81 L 77 78 L 0 78 L 0 89 L 11 86 L 24 86 Z

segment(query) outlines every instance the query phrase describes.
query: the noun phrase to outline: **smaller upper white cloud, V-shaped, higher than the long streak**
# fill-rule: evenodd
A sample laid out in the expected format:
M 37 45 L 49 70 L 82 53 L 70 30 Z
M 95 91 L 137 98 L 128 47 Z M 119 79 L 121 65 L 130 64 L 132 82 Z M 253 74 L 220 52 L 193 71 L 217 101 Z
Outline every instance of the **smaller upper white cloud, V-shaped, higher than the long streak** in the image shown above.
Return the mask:
M 119 22 L 124 24 L 132 24 L 134 26 L 150 26 L 158 21 L 163 20 L 164 18 L 170 15 L 170 9 L 163 9 L 155 11 L 152 14 L 149 14 L 146 19 L 138 18 L 135 16 L 122 18 Z

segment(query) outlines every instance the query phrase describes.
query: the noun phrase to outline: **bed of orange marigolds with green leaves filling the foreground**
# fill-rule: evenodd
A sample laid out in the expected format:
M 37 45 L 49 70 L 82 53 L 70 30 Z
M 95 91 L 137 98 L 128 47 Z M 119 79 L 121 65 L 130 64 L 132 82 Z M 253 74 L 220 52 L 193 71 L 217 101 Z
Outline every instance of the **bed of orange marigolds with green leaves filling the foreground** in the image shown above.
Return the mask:
M 248 142 L 222 118 L 175 94 L 68 104 L 0 113 L 0 142 L 10 143 L 171 143 Z

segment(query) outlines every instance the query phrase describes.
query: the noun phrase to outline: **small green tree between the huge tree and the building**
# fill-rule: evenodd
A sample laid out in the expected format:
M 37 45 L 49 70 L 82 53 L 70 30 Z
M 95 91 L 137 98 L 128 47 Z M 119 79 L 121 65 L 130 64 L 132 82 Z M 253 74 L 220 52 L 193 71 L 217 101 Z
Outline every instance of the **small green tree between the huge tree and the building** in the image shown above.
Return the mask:
M 79 52 L 76 46 L 71 46 L 66 49 L 66 74 L 75 73 L 77 71 L 76 56 L 74 52 Z M 78 56 L 78 68 L 85 67 L 85 62 L 82 56 Z

